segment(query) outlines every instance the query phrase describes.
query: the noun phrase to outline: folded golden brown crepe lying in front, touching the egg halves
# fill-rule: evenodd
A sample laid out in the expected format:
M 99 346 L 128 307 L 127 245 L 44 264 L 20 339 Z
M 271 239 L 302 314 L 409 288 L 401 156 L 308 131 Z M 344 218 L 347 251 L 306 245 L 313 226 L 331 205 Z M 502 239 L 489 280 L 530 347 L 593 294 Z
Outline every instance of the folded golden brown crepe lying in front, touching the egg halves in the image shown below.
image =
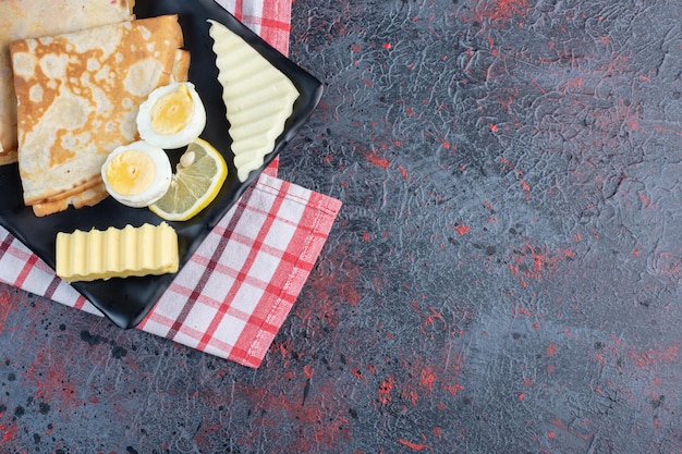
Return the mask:
M 186 79 L 182 45 L 176 15 L 12 42 L 19 170 L 37 216 L 107 197 L 100 168 L 137 139 L 138 106 L 155 88 Z

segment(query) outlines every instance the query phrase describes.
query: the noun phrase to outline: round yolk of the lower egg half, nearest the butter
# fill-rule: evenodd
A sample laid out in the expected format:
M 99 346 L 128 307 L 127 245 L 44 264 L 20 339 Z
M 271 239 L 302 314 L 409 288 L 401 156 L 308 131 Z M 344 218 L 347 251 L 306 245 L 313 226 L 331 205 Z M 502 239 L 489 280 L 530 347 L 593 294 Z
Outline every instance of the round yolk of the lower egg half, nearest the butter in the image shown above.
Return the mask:
M 107 165 L 109 186 L 123 196 L 144 193 L 154 181 L 154 160 L 139 150 L 125 150 Z

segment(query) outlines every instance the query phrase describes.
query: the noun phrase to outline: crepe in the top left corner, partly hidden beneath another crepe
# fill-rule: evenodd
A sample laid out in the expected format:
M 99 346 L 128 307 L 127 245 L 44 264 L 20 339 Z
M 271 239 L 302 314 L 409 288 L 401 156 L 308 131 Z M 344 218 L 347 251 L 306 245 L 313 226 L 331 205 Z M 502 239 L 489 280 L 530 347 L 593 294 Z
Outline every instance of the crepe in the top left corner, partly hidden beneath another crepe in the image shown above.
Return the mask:
M 16 162 L 10 42 L 133 20 L 134 0 L 0 0 L 0 165 Z

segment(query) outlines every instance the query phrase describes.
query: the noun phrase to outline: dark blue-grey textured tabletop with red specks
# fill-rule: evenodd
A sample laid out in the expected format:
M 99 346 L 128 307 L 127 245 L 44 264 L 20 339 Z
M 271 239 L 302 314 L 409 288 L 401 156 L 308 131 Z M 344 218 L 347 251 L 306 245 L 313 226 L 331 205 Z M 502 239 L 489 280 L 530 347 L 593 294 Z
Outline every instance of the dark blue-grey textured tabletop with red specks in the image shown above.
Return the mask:
M 0 452 L 682 451 L 677 0 L 295 0 L 343 200 L 257 370 L 0 286 Z

